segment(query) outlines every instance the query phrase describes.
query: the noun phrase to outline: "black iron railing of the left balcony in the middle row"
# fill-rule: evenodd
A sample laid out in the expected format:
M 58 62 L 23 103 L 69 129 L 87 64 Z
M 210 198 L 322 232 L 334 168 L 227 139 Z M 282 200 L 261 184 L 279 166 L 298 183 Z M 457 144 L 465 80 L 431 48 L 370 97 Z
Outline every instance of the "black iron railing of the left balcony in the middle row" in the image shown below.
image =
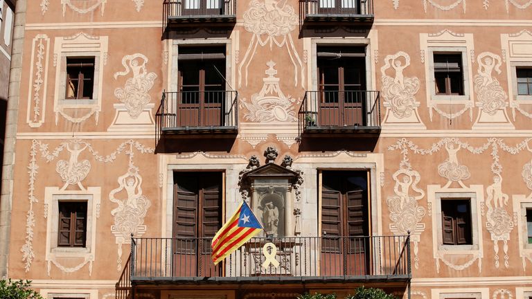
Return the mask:
M 164 129 L 237 127 L 238 92 L 163 92 L 155 118 L 157 141 Z

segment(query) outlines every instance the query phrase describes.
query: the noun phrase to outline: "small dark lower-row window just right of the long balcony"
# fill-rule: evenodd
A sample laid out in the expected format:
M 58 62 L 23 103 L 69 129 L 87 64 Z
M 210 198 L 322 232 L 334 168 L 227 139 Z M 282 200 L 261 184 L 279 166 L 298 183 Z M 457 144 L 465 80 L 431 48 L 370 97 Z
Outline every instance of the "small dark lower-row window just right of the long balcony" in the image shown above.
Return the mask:
M 441 200 L 443 244 L 472 245 L 470 199 Z

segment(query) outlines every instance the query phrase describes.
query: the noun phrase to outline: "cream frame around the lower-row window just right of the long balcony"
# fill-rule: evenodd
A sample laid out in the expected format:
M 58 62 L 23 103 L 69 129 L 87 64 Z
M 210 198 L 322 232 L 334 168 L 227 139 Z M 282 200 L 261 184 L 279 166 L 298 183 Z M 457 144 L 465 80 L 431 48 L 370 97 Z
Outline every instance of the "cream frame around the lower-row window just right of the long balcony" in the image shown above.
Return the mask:
M 443 244 L 441 200 L 464 199 L 471 200 L 471 228 L 472 245 L 447 245 Z M 484 188 L 482 185 L 470 185 L 470 188 L 441 188 L 440 185 L 427 185 L 427 201 L 432 214 L 432 244 L 434 258 L 452 253 L 464 255 L 483 256 L 483 236 L 481 206 L 484 204 Z

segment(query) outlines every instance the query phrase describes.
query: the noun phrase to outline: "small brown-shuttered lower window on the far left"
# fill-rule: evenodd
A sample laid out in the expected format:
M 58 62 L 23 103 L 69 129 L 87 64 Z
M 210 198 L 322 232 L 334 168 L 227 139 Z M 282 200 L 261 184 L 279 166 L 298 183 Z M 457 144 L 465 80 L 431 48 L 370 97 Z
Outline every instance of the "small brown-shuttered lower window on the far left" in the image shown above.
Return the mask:
M 59 201 L 57 246 L 85 247 L 87 242 L 87 201 Z

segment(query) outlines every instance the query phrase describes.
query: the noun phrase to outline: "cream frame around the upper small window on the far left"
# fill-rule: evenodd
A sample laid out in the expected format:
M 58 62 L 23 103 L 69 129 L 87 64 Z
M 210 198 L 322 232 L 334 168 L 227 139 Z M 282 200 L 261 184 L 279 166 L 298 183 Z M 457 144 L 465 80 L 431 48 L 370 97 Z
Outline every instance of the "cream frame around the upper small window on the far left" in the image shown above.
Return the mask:
M 63 109 L 91 109 L 100 112 L 103 93 L 103 66 L 107 60 L 107 36 L 78 33 L 71 37 L 55 37 L 53 65 L 55 66 L 54 111 Z M 94 87 L 91 99 L 66 99 L 67 57 L 94 57 Z M 57 119 L 57 117 L 56 117 Z M 57 123 L 57 120 L 56 120 Z

